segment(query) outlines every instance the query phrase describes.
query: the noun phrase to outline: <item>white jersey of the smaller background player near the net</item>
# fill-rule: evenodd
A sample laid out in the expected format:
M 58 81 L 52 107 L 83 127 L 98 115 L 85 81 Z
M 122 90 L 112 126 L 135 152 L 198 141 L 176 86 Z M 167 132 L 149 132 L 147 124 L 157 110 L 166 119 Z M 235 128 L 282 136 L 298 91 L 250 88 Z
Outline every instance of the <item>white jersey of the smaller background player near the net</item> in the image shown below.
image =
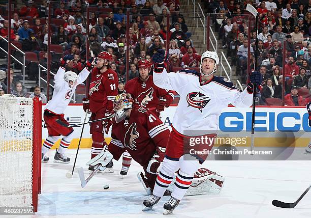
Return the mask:
M 54 114 L 64 114 L 66 107 L 68 106 L 71 97 L 73 96 L 77 86 L 84 82 L 87 78 L 89 71 L 84 68 L 78 75 L 77 83 L 70 88 L 67 81 L 64 79 L 65 68 L 59 67 L 57 73 L 54 76 L 54 91 L 52 99 L 47 102 L 44 110 L 48 110 Z

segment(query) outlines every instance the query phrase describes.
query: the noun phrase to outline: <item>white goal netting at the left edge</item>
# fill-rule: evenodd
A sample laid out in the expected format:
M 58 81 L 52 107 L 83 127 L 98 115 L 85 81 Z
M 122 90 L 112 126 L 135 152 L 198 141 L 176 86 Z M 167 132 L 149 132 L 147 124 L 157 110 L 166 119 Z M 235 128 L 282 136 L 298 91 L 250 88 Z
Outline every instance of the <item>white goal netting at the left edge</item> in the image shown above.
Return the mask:
M 0 207 L 32 206 L 33 99 L 0 97 Z

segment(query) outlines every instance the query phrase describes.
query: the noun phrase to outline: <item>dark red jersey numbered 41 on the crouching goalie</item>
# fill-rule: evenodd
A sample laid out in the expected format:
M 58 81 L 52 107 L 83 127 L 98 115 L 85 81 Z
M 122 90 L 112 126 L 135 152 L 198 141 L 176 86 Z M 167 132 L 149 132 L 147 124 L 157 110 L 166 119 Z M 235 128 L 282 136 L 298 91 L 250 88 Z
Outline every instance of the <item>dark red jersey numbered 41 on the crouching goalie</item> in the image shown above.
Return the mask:
M 155 148 L 165 148 L 170 130 L 148 109 L 135 105 L 131 116 L 120 123 L 113 123 L 108 150 L 118 160 L 128 150 L 133 159 L 146 166 Z

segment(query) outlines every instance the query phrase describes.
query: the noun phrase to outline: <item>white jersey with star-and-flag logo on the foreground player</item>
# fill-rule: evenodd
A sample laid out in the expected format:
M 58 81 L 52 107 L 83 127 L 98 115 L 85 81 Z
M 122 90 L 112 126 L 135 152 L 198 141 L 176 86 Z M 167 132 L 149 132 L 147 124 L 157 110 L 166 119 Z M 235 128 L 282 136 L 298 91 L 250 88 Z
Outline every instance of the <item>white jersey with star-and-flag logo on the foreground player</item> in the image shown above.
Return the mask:
M 183 135 L 216 133 L 221 111 L 229 103 L 237 107 L 249 107 L 253 103 L 253 93 L 239 90 L 229 79 L 214 76 L 205 82 L 195 70 L 153 72 L 153 82 L 180 95 L 172 128 Z M 197 130 L 200 134 L 196 134 Z

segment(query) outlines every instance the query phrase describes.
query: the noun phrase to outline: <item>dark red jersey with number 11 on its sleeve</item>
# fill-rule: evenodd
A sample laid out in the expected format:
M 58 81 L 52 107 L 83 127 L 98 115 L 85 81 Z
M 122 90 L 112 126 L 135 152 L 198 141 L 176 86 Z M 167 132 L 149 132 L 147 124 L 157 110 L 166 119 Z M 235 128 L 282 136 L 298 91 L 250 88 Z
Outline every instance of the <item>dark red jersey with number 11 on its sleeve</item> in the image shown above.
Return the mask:
M 118 75 L 112 69 L 100 73 L 98 68 L 94 68 L 91 73 L 89 84 L 89 109 L 92 113 L 97 113 L 106 108 L 113 110 L 113 101 L 118 94 Z

